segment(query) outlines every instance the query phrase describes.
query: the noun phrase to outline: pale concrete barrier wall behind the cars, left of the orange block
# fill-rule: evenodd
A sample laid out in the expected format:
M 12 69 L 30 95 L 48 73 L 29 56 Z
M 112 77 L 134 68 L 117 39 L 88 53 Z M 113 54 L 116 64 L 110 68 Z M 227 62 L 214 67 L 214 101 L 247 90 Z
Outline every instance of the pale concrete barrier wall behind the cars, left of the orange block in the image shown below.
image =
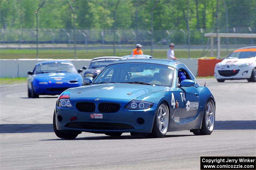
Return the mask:
M 0 77 L 27 77 L 28 71 L 33 71 L 36 63 L 42 61 L 49 61 L 53 59 L 13 59 L 13 60 L 0 60 Z M 91 60 L 89 59 L 66 59 L 66 61 L 71 61 L 76 70 L 82 69 L 83 66 L 89 66 Z M 178 61 L 184 63 L 192 73 L 197 76 L 198 70 L 198 60 L 197 59 L 179 59 Z M 83 75 L 83 72 L 81 73 Z

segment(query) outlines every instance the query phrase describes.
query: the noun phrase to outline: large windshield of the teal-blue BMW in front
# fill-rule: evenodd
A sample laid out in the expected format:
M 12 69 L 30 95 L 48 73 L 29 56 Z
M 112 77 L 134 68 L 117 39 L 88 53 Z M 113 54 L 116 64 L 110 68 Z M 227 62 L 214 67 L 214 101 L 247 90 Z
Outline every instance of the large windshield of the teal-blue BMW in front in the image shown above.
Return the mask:
M 120 63 L 107 66 L 94 83 L 139 83 L 172 87 L 174 68 L 150 63 Z

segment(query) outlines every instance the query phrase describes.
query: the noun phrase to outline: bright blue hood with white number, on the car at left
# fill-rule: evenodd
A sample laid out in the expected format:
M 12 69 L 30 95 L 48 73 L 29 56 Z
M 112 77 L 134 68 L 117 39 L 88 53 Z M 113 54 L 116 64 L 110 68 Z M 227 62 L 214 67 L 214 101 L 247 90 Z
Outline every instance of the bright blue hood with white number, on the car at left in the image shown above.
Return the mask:
M 78 73 L 42 73 L 36 74 L 34 78 L 37 80 L 72 80 L 72 79 L 80 79 L 81 75 Z M 81 77 L 82 79 L 82 77 Z

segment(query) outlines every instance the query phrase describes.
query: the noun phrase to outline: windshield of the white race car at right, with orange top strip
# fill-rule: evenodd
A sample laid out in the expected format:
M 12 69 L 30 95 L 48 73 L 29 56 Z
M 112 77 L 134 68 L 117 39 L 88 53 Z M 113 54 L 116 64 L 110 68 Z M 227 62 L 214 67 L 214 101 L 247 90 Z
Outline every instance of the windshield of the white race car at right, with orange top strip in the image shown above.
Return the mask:
M 234 58 L 251 58 L 256 56 L 256 48 L 249 49 L 238 49 L 233 53 L 229 54 L 228 59 Z

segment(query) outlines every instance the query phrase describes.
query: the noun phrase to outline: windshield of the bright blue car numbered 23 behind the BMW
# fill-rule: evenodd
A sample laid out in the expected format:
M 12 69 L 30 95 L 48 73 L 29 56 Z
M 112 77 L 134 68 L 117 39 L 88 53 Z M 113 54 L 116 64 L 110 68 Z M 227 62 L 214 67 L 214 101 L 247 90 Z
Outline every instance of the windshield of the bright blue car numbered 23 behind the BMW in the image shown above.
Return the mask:
M 43 63 L 36 67 L 36 74 L 39 73 L 56 73 L 56 72 L 72 72 L 76 73 L 76 68 L 72 63 Z

